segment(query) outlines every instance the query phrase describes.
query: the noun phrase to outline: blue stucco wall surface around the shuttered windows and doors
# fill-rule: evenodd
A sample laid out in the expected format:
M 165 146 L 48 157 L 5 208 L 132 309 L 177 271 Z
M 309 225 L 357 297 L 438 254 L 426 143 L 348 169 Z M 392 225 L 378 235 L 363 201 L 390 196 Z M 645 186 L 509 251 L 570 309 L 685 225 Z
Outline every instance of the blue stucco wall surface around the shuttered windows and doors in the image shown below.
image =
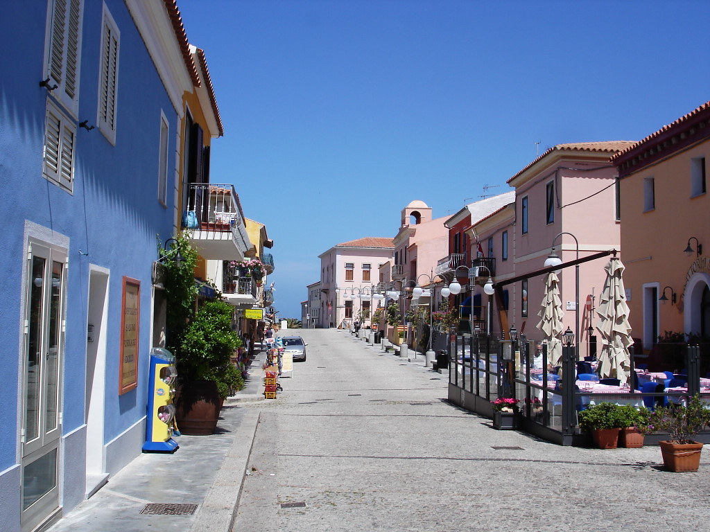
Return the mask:
M 47 91 L 42 79 L 47 2 L 9 2 L 0 18 L 0 35 L 13 43 L 1 59 L 0 212 L 5 216 L 0 253 L 5 282 L 0 297 L 0 404 L 21 400 L 20 300 L 26 268 L 25 221 L 70 240 L 66 333 L 63 360 L 63 433 L 84 423 L 85 358 L 89 264 L 110 270 L 104 441 L 113 440 L 146 415 L 148 353 L 151 348 L 151 265 L 156 235 L 173 233 L 173 201 L 158 202 L 160 111 L 169 123 L 174 148 L 178 116 L 168 99 L 141 36 L 122 0 L 105 0 L 121 32 L 116 145 L 95 128 L 77 128 L 75 182 L 69 194 L 42 176 Z M 84 2 L 79 112 L 77 121 L 97 121 L 102 33 L 102 2 Z M 7 74 L 11 73 L 11 74 Z M 174 151 L 168 177 L 175 171 Z M 170 189 L 170 187 L 169 187 Z M 119 397 L 121 283 L 141 282 L 138 388 Z M 0 471 L 18 459 L 19 406 L 0 411 Z M 136 449 L 139 453 L 140 449 Z

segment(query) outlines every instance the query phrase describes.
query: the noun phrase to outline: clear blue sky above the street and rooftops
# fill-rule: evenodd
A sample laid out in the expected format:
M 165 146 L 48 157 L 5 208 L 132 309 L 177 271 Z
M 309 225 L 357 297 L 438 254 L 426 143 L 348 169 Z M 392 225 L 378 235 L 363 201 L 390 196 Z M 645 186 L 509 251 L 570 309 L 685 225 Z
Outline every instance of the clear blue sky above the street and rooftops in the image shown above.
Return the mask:
M 446 216 L 559 143 L 640 140 L 710 100 L 706 1 L 178 0 L 234 183 L 300 318 L 317 255 Z

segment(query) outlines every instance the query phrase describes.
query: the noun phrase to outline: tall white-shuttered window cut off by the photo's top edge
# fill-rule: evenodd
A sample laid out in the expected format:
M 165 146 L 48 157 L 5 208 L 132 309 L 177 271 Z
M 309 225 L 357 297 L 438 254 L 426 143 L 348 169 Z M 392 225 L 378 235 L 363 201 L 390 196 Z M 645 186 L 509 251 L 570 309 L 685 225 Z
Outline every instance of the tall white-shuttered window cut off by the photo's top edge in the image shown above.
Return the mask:
M 48 13 L 45 78 L 57 97 L 77 113 L 81 50 L 82 0 L 52 0 Z

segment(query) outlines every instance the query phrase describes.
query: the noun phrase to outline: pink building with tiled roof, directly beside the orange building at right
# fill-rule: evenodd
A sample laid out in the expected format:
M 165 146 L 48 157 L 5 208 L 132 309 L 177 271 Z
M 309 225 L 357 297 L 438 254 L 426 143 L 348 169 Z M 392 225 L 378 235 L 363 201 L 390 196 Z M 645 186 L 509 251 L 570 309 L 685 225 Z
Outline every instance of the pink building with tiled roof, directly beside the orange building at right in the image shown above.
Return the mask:
M 542 338 L 535 325 L 544 276 L 509 281 L 544 267 L 553 246 L 562 262 L 620 248 L 617 173 L 609 158 L 631 144 L 570 143 L 550 148 L 508 179 L 515 188 L 514 211 L 494 213 L 471 228 L 484 254 L 495 260 L 498 286 L 491 305 L 492 332 L 507 334 L 515 325 L 528 338 Z M 606 262 L 602 258 L 579 265 L 579 309 L 575 267 L 559 274 L 564 326 L 579 331 L 580 355 L 588 352 L 588 328 L 596 324 L 596 319 L 590 321 L 591 301 L 596 305 L 601 293 Z

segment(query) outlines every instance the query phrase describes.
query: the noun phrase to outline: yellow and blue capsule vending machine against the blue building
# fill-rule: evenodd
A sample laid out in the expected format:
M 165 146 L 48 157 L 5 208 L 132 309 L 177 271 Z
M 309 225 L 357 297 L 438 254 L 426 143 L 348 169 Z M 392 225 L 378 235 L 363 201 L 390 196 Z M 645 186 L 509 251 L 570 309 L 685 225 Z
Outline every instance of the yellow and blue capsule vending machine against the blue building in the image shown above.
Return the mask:
M 173 395 L 177 377 L 173 353 L 163 348 L 151 349 L 149 382 L 152 393 L 148 395 L 148 423 L 143 453 L 175 453 L 179 448 L 172 438 L 175 423 Z

